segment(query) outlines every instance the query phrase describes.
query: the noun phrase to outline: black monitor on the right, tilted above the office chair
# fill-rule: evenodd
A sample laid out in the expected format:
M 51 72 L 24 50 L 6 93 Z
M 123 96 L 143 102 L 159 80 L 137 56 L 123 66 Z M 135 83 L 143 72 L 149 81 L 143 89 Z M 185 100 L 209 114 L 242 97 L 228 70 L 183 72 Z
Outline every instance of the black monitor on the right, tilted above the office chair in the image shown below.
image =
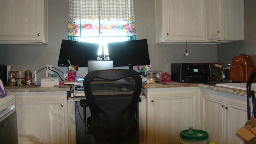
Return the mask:
M 129 69 L 133 69 L 133 66 L 150 64 L 146 39 L 112 42 L 107 46 L 109 58 L 114 61 L 114 66 L 129 66 Z

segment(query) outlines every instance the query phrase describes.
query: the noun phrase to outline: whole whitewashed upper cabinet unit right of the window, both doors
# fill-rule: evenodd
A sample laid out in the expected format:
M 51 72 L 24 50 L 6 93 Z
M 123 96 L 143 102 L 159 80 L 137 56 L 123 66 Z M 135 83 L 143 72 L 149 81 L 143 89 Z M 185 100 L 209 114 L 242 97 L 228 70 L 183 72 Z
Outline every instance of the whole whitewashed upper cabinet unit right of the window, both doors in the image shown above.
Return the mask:
M 244 40 L 243 0 L 155 0 L 156 43 Z

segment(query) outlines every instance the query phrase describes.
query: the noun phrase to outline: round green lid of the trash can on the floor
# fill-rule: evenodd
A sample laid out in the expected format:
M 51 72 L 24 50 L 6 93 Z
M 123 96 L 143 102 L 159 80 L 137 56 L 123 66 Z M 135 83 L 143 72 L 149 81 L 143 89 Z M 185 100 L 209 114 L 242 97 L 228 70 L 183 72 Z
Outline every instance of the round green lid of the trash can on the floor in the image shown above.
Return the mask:
M 193 133 L 188 130 L 182 130 L 180 132 L 180 138 L 186 140 L 206 140 L 208 138 L 208 132 L 203 130 L 192 130 Z

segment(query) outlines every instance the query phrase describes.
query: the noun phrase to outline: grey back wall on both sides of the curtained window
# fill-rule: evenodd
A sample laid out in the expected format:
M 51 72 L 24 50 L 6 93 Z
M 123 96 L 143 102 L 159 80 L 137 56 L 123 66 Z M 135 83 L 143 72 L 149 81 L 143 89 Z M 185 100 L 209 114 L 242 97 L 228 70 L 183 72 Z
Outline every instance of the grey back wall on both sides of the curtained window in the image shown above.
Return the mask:
M 153 70 L 170 72 L 170 63 L 216 62 L 217 45 L 155 44 L 155 0 L 135 0 L 137 39 L 148 39 L 150 62 Z M 0 64 L 13 65 L 14 70 L 39 71 L 47 64 L 58 67 L 62 39 L 67 39 L 67 0 L 48 0 L 48 44 L 0 44 Z M 80 68 L 78 76 L 84 77 L 87 68 Z M 45 69 L 38 73 L 38 80 L 45 76 Z

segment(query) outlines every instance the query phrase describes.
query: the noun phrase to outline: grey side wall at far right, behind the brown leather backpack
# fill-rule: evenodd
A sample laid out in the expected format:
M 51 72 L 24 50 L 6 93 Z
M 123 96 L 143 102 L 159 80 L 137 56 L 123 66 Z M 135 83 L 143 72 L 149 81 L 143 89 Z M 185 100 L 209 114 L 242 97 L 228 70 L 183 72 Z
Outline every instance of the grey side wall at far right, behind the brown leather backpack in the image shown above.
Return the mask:
M 252 57 L 256 66 L 256 1 L 244 0 L 244 41 L 218 45 L 218 61 L 232 63 L 232 58 L 245 53 Z

